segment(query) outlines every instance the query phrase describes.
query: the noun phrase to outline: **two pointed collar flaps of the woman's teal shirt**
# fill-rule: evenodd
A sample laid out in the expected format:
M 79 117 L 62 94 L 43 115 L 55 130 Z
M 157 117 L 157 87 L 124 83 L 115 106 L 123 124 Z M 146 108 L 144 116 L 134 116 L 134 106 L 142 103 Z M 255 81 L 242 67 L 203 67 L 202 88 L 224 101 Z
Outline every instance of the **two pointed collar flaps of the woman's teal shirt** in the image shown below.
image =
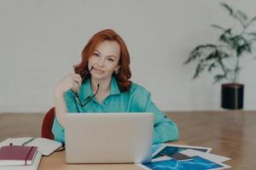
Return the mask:
M 115 77 L 112 77 L 110 82 L 109 95 L 114 95 L 114 94 L 120 94 L 120 90 Z M 89 98 L 89 96 L 92 96 L 92 95 L 93 95 L 93 90 L 90 87 L 90 78 L 88 78 L 80 88 L 79 99 L 81 99 L 84 102 L 84 100 L 86 100 L 87 98 Z

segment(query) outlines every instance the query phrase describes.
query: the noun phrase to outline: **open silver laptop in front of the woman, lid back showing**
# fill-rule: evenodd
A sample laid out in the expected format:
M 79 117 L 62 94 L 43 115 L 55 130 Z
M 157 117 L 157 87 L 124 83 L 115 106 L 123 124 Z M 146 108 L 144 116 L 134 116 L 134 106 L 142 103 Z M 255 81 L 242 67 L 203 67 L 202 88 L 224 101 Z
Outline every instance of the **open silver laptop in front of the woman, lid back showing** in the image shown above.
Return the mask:
M 67 163 L 151 161 L 152 113 L 67 113 Z

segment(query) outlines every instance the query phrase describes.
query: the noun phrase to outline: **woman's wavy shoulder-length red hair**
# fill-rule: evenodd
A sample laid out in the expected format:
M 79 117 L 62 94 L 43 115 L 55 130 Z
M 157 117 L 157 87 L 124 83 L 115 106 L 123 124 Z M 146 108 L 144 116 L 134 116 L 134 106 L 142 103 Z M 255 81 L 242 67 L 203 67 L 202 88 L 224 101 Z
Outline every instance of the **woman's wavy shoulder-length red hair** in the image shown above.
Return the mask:
M 88 69 L 88 60 L 90 56 L 95 52 L 97 45 L 103 41 L 115 41 L 119 43 L 120 47 L 120 58 L 119 58 L 119 72 L 118 74 L 113 74 L 116 78 L 121 92 L 128 91 L 131 88 L 131 69 L 130 69 L 130 54 L 125 45 L 124 40 L 113 30 L 103 30 L 97 32 L 93 37 L 90 38 L 89 42 L 85 45 L 82 51 L 82 60 L 79 65 L 74 66 L 74 71 L 79 74 L 83 82 L 90 78 L 90 73 Z

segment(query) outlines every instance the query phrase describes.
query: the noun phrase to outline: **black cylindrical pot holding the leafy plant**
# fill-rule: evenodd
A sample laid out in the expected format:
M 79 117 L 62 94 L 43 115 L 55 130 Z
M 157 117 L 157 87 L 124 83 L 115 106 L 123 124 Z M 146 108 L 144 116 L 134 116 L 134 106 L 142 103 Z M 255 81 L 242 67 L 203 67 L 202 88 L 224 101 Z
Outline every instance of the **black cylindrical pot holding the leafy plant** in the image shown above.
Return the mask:
M 221 85 L 221 107 L 239 110 L 243 107 L 243 84 L 226 83 Z

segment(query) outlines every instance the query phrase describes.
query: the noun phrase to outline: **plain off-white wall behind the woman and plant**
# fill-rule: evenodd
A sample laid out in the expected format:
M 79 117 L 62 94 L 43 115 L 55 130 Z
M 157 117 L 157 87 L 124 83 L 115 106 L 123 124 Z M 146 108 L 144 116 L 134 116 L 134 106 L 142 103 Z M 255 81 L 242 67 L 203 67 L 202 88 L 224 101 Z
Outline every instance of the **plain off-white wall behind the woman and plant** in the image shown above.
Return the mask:
M 106 28 L 124 38 L 132 80 L 151 91 L 161 110 L 221 110 L 220 84 L 208 74 L 192 82 L 195 65 L 183 65 L 196 45 L 217 40 L 209 25 L 236 24 L 219 2 L 2 0 L 0 112 L 47 111 L 55 83 L 79 62 L 89 38 Z M 256 1 L 224 2 L 256 14 Z M 255 65 L 249 57 L 242 65 L 247 111 L 256 109 Z

